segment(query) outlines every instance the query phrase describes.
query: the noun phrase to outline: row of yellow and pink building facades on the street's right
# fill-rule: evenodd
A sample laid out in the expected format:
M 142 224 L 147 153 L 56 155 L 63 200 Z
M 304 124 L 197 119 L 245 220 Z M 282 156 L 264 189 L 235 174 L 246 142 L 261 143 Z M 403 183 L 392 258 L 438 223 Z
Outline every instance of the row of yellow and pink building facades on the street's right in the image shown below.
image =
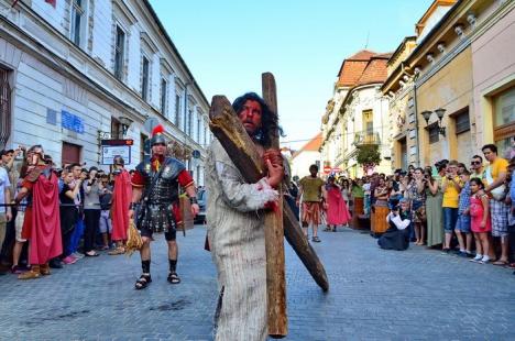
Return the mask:
M 513 151 L 515 1 L 435 0 L 388 61 L 393 168 Z M 403 57 L 404 54 L 404 57 Z M 396 57 L 396 59 L 394 59 Z M 513 152 L 512 152 L 513 153 Z

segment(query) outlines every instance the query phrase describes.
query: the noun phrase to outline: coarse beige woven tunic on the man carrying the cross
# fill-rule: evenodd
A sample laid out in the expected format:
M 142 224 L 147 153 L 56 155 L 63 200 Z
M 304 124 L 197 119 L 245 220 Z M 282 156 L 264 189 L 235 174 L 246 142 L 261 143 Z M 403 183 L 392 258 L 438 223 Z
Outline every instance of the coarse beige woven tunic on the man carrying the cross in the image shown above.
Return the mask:
M 223 288 L 216 340 L 265 340 L 265 202 L 277 194 L 263 180 L 245 184 L 218 140 L 206 166 L 207 221 L 219 289 Z

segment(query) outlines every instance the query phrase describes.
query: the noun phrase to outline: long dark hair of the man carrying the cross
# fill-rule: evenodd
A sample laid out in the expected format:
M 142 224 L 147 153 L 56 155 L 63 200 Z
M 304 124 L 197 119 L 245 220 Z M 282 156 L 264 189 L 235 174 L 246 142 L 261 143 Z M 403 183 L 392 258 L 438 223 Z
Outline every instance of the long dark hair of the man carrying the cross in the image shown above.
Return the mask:
M 270 147 L 272 143 L 270 136 L 276 136 L 277 132 L 278 136 L 284 136 L 283 129 L 278 125 L 278 117 L 270 110 L 265 101 L 255 92 L 246 92 L 238 97 L 232 103 L 232 109 L 239 114 L 248 100 L 256 101 L 261 106 L 261 128 L 254 138 L 264 147 Z

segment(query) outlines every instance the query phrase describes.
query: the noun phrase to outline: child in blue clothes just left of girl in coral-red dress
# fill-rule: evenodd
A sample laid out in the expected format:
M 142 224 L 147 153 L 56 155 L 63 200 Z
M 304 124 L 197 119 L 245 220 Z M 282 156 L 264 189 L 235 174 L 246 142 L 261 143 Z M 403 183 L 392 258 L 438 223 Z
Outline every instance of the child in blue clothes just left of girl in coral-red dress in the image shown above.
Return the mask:
M 462 257 L 472 256 L 472 234 L 470 233 L 470 172 L 467 169 L 461 170 L 460 180 L 463 188 L 460 193 L 458 205 L 458 220 L 456 222 L 456 237 L 460 244 L 460 253 Z

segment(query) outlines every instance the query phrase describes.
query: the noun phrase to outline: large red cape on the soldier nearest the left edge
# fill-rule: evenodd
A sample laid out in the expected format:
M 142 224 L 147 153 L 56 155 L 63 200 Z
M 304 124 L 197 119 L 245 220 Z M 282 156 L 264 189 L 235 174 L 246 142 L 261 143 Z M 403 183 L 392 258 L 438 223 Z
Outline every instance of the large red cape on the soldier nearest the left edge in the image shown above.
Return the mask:
M 57 177 L 40 175 L 32 194 L 31 264 L 45 264 L 63 253 Z

